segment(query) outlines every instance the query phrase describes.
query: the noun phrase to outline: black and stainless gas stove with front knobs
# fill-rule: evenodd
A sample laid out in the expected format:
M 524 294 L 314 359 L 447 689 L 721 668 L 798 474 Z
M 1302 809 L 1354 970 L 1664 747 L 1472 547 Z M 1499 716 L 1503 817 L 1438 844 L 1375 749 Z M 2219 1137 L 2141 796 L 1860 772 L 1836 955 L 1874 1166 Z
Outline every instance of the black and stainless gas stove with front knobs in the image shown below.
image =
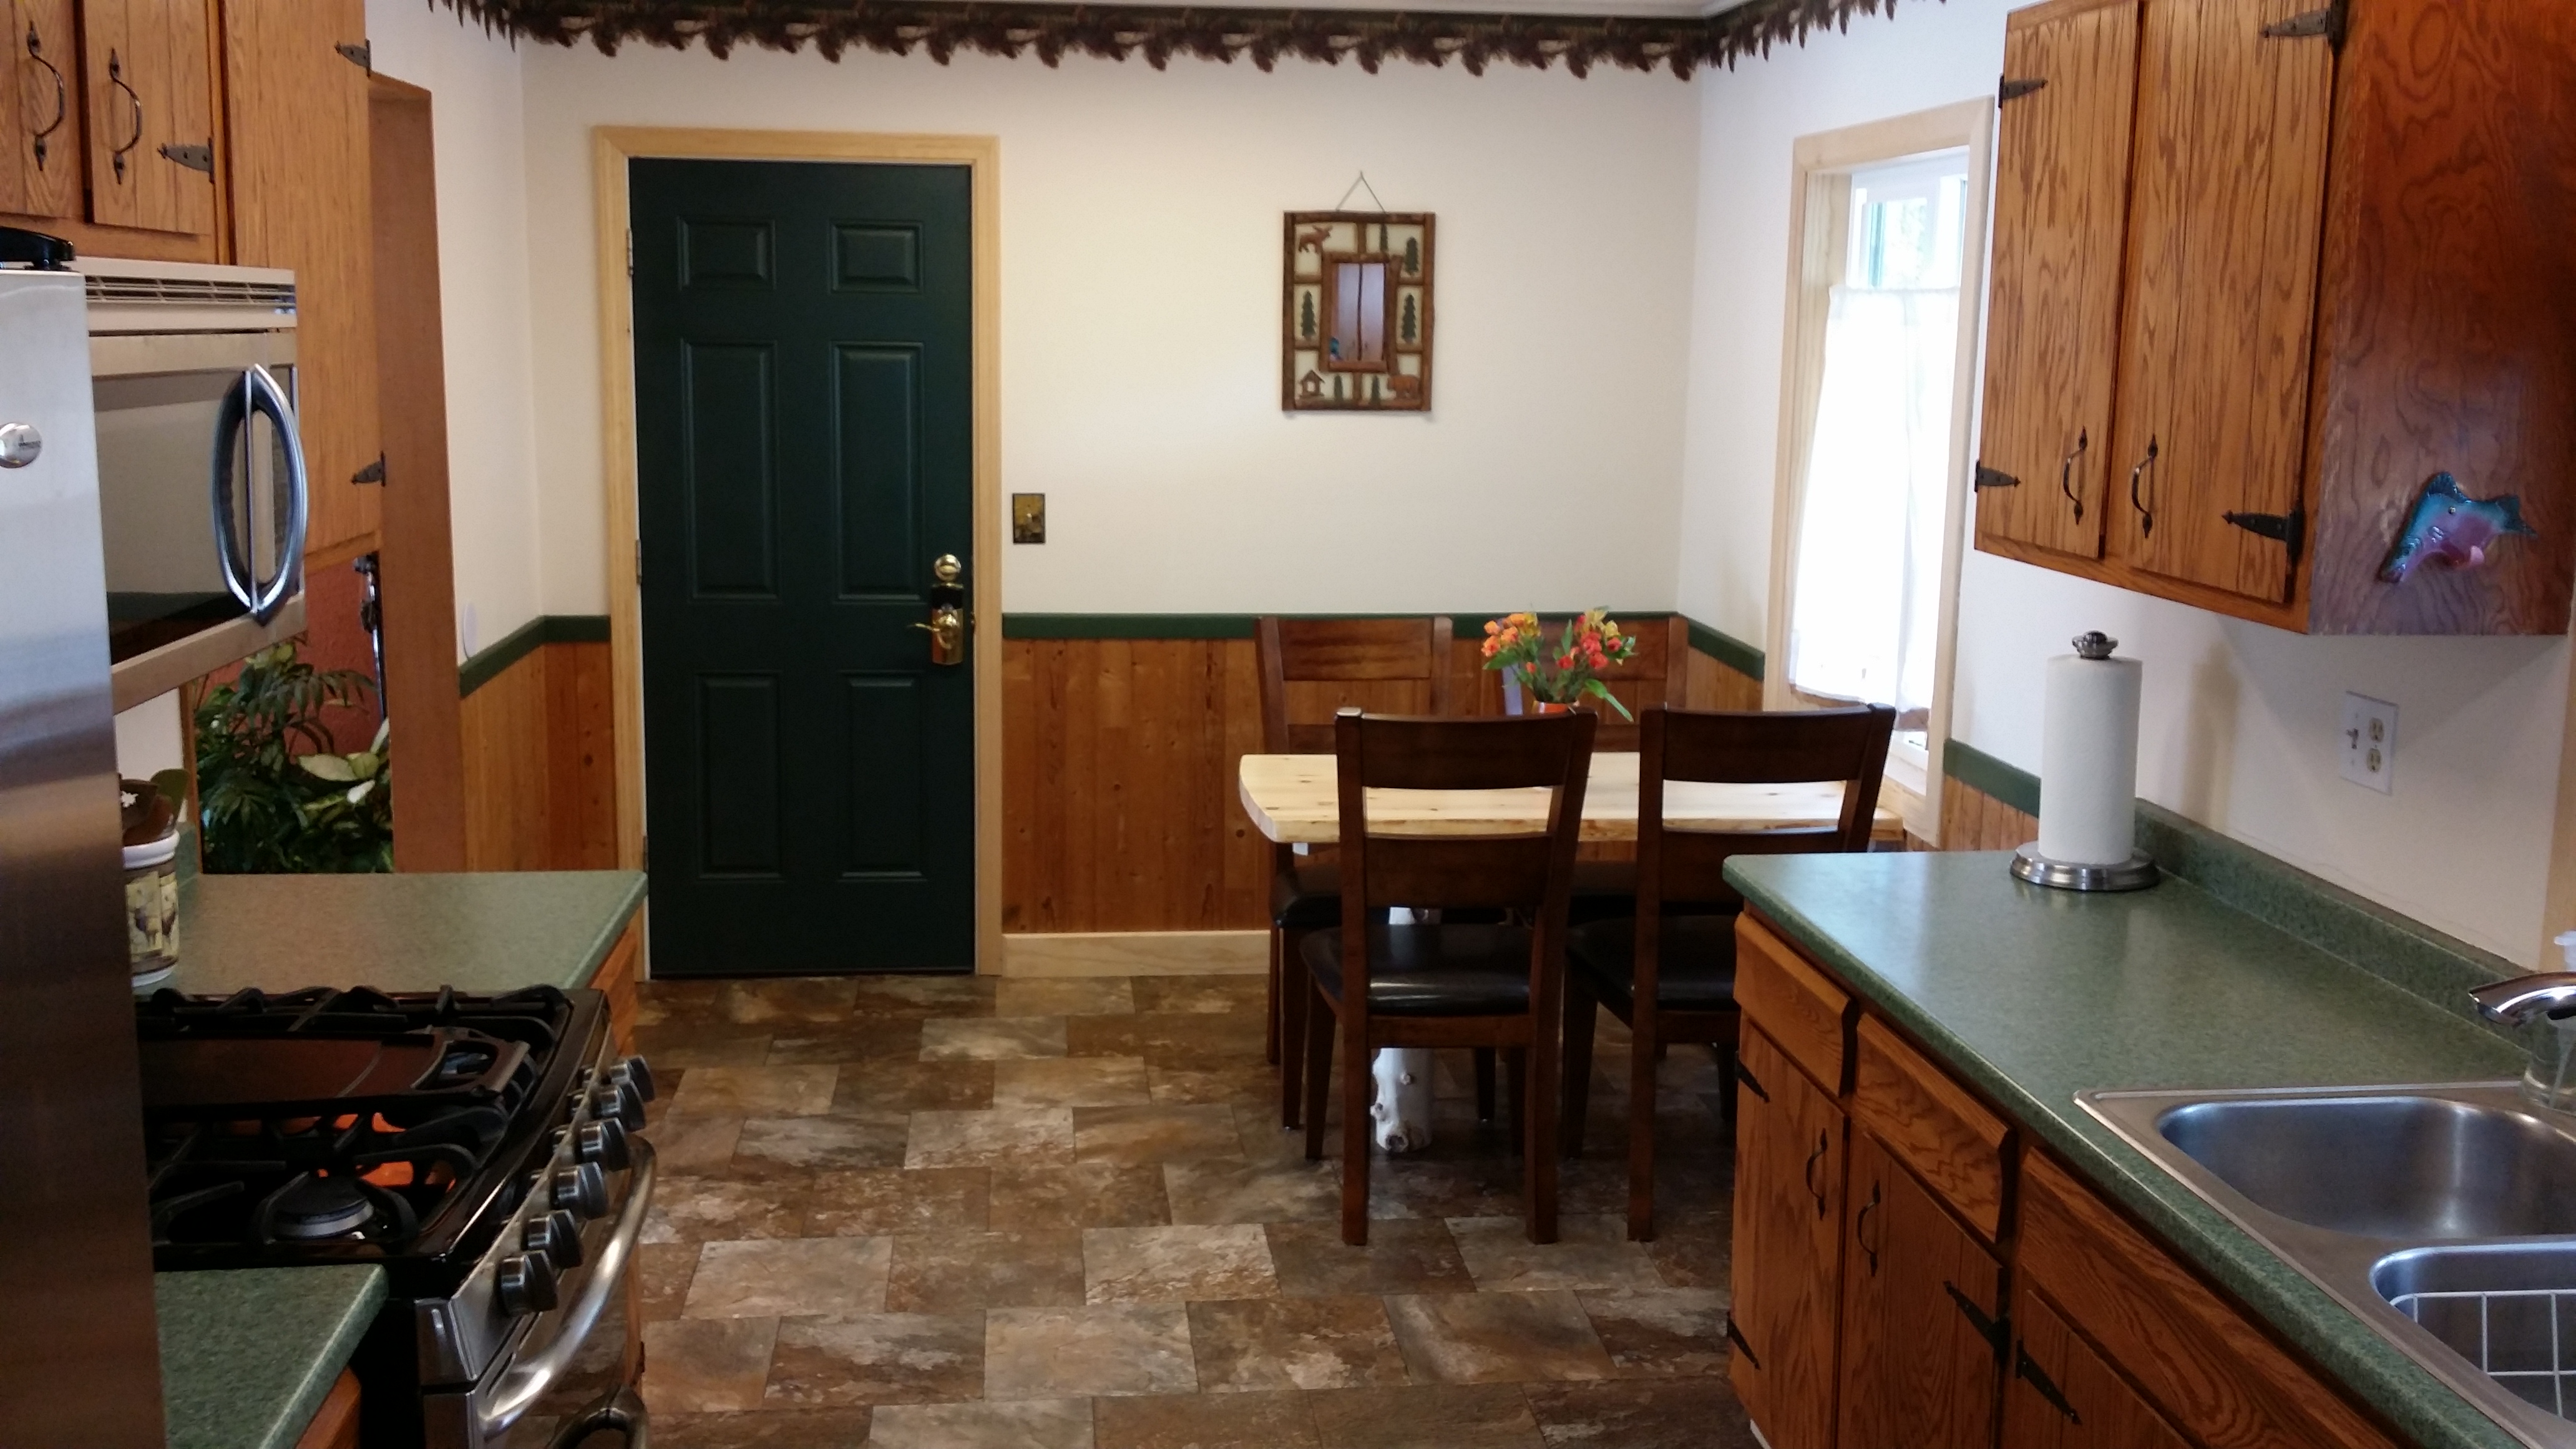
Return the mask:
M 497 1449 L 531 1410 L 641 1441 L 631 1372 L 564 1403 L 623 1305 L 654 1096 L 592 990 L 245 990 L 137 1003 L 162 1271 L 376 1263 L 366 1444 Z M 621 1369 L 626 1354 L 613 1361 Z

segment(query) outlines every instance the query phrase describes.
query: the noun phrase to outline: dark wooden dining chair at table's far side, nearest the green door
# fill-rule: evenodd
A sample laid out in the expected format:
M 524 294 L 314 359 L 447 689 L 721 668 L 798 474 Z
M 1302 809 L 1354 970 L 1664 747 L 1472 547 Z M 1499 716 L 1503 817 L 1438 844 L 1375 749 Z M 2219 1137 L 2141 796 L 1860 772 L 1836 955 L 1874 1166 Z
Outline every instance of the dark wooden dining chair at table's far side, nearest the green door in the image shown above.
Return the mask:
M 1337 709 L 1450 714 L 1450 621 L 1278 619 L 1255 624 L 1262 663 L 1262 753 L 1329 755 Z M 1298 944 L 1342 923 L 1342 871 L 1332 853 L 1270 856 L 1270 1000 L 1265 1049 L 1280 1067 L 1280 1127 L 1296 1127 L 1298 1044 L 1306 1039 L 1306 967 Z

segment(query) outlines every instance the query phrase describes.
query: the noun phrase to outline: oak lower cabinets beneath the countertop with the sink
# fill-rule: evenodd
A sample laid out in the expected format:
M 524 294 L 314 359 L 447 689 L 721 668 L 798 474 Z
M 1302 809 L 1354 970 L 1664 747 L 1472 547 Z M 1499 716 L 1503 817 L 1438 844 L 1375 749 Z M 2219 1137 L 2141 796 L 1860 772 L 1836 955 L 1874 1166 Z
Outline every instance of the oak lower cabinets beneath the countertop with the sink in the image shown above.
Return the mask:
M 1736 1000 L 1731 1379 L 1772 1449 L 2398 1449 L 1752 910 Z

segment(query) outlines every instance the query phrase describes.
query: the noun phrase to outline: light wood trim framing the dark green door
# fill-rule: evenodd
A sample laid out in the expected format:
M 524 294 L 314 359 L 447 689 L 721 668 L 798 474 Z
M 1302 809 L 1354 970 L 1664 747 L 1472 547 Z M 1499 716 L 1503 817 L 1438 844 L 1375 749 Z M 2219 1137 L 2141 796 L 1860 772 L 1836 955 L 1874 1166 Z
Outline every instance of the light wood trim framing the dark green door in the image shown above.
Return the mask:
M 1002 969 L 1002 142 L 863 131 L 590 131 L 600 273 L 600 428 L 608 511 L 608 639 L 618 753 L 618 864 L 644 866 L 644 647 L 636 593 L 634 289 L 626 162 L 845 160 L 974 173 L 974 856 L 976 972 Z M 649 926 L 647 926 L 649 931 Z M 647 936 L 647 964 L 652 941 Z

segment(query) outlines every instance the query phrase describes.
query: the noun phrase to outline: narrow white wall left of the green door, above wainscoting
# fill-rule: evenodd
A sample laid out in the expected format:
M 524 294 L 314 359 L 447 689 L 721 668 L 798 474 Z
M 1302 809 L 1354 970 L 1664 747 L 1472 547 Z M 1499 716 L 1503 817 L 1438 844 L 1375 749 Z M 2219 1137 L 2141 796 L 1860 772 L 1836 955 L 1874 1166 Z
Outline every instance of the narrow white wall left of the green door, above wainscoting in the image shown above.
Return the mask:
M 520 52 L 422 0 L 368 0 L 366 36 L 381 75 L 433 93 L 456 647 L 474 652 L 544 611 Z

